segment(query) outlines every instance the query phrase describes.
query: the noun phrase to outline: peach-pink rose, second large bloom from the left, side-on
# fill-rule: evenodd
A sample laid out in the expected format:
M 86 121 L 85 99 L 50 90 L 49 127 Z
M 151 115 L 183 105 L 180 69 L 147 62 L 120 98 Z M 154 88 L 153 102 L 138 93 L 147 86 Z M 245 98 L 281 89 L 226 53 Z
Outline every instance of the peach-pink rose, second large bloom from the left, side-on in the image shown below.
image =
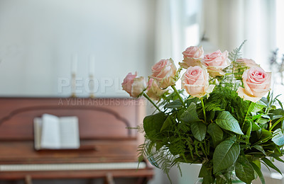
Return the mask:
M 173 59 L 162 59 L 152 67 L 151 79 L 155 79 L 160 88 L 168 88 L 175 84 L 175 73 L 177 68 Z

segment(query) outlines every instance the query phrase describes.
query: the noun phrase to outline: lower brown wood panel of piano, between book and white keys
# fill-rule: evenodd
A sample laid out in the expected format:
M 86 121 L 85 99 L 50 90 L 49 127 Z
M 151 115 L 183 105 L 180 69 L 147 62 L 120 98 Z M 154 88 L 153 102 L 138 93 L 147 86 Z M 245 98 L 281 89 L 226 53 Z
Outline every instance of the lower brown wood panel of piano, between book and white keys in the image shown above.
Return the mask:
M 84 141 L 93 146 L 89 150 L 40 150 L 35 151 L 33 142 L 1 142 L 0 162 L 3 163 L 102 163 L 137 161 L 137 142 Z

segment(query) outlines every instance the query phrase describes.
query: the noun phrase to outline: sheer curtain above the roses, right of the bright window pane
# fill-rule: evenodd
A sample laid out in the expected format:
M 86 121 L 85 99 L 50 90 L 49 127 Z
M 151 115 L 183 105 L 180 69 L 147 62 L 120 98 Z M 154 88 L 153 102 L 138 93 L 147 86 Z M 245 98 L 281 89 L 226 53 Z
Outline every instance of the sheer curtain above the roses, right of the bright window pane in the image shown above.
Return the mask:
M 244 40 L 243 56 L 269 69 L 275 49 L 275 0 L 203 0 L 204 33 L 220 50 Z

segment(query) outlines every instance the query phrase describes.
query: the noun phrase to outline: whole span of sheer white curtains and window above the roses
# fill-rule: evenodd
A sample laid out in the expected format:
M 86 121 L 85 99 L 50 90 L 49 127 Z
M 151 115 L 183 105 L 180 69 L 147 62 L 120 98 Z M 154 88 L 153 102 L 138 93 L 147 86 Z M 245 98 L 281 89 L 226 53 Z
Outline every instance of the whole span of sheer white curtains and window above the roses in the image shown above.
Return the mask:
M 155 62 L 180 60 L 191 45 L 230 52 L 247 40 L 243 56 L 269 68 L 276 47 L 275 0 L 157 0 L 155 22 Z

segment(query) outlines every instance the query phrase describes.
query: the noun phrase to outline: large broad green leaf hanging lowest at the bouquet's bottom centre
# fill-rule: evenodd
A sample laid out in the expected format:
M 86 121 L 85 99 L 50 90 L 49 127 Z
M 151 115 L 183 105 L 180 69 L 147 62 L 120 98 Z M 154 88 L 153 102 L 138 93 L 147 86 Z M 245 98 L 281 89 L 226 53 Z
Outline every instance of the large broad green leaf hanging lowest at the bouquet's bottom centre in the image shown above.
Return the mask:
M 233 165 L 236 159 L 238 159 L 239 153 L 239 144 L 231 140 L 221 142 L 213 154 L 213 173 L 217 173 Z

